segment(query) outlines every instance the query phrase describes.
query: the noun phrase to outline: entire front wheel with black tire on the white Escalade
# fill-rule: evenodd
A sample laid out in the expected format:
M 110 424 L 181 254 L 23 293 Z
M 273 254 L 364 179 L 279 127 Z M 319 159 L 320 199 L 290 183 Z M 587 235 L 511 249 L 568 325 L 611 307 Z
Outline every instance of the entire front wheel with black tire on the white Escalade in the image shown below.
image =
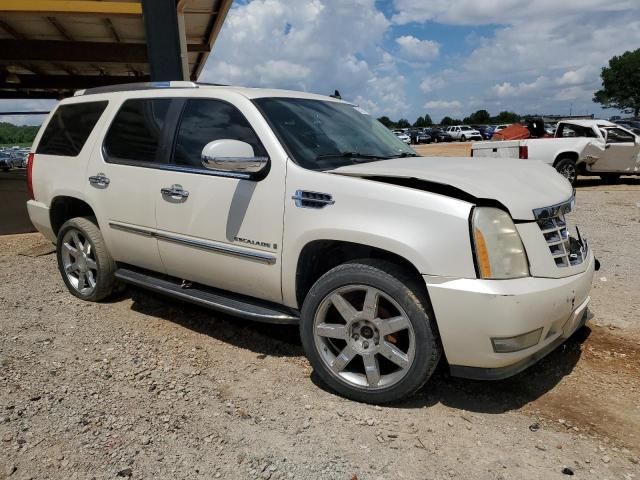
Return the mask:
M 323 275 L 305 298 L 300 335 L 324 383 L 372 404 L 413 394 L 442 354 L 426 289 L 380 260 L 349 262 Z

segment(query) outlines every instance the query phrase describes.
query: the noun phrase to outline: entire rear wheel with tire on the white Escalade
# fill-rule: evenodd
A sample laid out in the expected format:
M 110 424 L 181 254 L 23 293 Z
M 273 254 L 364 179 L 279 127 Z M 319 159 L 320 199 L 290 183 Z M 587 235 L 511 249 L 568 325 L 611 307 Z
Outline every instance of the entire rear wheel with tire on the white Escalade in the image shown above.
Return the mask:
M 115 287 L 116 264 L 95 218 L 76 217 L 58 231 L 58 270 L 69 291 L 82 300 L 98 302 Z

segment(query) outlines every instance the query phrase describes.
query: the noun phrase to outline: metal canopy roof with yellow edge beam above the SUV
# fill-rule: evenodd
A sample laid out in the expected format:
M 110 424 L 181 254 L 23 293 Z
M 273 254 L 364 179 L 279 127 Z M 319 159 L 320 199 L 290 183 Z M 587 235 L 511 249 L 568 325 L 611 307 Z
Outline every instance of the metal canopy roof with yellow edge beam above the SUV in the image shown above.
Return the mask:
M 233 0 L 169 1 L 182 79 L 197 80 Z M 152 79 L 145 22 L 167 21 L 153 2 L 0 0 L 0 98 L 61 98 Z

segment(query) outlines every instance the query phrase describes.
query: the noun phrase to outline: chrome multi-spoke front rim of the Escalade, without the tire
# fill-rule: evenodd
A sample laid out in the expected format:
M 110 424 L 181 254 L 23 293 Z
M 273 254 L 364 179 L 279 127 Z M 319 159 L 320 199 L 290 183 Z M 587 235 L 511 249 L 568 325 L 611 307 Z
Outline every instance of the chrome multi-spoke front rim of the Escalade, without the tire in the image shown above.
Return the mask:
M 329 293 L 314 317 L 314 342 L 334 377 L 368 390 L 390 387 L 408 373 L 415 333 L 404 309 L 383 291 L 349 285 Z

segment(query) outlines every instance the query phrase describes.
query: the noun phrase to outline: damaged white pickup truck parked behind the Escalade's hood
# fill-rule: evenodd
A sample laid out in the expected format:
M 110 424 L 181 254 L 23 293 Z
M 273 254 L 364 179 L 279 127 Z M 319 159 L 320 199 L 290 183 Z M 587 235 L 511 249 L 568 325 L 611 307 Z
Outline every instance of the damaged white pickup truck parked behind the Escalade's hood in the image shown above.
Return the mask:
M 606 120 L 558 123 L 554 138 L 474 143 L 473 157 L 542 160 L 572 184 L 578 175 L 599 175 L 615 182 L 620 175 L 640 175 L 640 137 Z

